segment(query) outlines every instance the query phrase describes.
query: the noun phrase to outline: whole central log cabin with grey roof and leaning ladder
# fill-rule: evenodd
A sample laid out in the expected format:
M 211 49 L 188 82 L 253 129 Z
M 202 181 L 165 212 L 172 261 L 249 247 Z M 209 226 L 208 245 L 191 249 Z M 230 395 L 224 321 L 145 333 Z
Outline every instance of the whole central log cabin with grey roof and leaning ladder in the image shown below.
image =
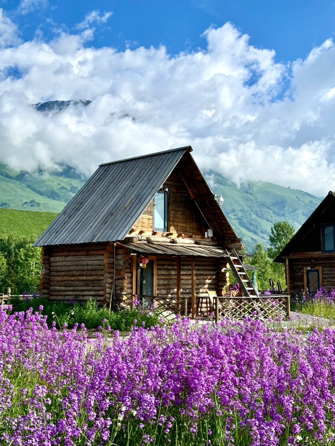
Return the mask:
M 113 309 L 135 295 L 143 304 L 189 296 L 194 317 L 196 296 L 226 292 L 231 263 L 244 295 L 257 295 L 236 253 L 242 240 L 191 151 L 100 165 L 35 243 L 41 295 Z

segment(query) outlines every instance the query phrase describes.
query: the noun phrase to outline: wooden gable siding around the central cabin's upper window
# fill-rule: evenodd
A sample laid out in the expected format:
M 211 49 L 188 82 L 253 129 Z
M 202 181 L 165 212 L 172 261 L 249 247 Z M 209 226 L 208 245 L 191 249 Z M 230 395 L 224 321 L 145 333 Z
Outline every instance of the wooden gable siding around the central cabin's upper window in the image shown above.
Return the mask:
M 164 182 L 168 190 L 168 228 L 174 234 L 204 236 L 208 229 L 204 217 L 192 200 L 187 187 L 177 169 Z M 134 232 L 153 231 L 153 201 L 134 224 Z

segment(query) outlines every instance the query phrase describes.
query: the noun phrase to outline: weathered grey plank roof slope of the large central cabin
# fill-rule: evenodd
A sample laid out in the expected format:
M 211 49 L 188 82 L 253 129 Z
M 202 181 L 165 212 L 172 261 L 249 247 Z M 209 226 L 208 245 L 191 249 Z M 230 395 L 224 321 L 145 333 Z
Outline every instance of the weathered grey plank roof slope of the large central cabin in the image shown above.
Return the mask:
M 100 165 L 34 246 L 122 240 L 189 150 Z

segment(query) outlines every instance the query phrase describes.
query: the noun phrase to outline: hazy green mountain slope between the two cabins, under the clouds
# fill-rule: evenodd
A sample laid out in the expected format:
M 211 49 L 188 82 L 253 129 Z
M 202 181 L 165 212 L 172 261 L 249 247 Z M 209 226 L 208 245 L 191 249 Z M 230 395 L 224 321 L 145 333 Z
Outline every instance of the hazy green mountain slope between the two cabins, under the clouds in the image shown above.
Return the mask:
M 215 194 L 222 195 L 223 211 L 248 252 L 257 243 L 268 245 L 273 223 L 288 220 L 297 230 L 322 201 L 303 192 L 269 182 L 247 182 L 240 187 L 217 172 L 205 172 Z

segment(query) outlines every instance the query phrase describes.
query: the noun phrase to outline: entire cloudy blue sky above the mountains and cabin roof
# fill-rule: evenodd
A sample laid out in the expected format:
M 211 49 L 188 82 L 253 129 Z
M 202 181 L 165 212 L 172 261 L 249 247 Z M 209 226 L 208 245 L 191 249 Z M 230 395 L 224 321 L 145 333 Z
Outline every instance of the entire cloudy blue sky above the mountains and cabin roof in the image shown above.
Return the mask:
M 192 145 L 201 169 L 236 184 L 325 195 L 334 31 L 335 2 L 322 0 L 2 1 L 0 163 L 89 175 Z M 80 98 L 92 103 L 31 107 Z

